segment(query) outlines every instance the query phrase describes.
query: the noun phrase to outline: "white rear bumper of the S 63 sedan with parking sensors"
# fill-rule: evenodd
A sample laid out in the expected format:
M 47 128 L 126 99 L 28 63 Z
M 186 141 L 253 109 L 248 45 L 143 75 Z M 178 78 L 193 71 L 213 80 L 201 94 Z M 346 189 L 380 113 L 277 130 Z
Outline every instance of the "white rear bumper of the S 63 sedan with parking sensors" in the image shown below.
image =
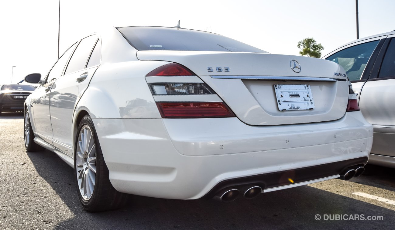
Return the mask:
M 282 177 L 292 171 L 315 166 L 323 166 L 320 173 L 297 173 L 292 180 L 333 178 L 344 167 L 366 163 L 373 134 L 360 112 L 330 122 L 267 127 L 237 118 L 94 119 L 94 124 L 113 186 L 169 199 L 198 199 L 226 181 L 280 172 L 263 178 L 266 188 L 275 188 L 289 184 Z

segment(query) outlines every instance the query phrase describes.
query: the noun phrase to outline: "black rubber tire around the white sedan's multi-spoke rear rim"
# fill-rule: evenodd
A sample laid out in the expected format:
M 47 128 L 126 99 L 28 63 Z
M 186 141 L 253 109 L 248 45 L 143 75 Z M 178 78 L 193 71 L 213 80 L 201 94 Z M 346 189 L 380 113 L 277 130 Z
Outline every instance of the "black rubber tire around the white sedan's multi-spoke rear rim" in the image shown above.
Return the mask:
M 88 160 L 89 158 L 92 158 L 92 155 L 90 154 L 93 153 L 94 149 L 90 148 L 90 151 L 85 152 L 85 150 L 81 150 L 81 146 L 83 145 L 80 146 L 79 144 L 79 137 L 81 136 L 81 132 L 89 129 L 94 140 L 94 157 L 96 157 L 94 163 L 89 162 Z M 81 138 L 81 140 L 83 139 Z M 90 141 L 86 142 L 85 144 L 88 146 L 86 149 L 89 149 L 89 146 L 92 145 L 90 144 Z M 85 164 L 84 160 L 86 162 Z M 89 172 L 89 170 L 92 170 L 91 168 L 93 168 L 92 164 L 94 164 L 94 169 L 96 170 L 96 173 L 94 173 L 95 182 L 93 185 L 93 192 L 91 192 L 90 197 L 88 197 L 88 195 L 82 194 L 85 191 L 80 188 L 81 185 L 79 183 L 79 179 L 81 183 L 83 183 L 84 180 L 89 180 L 90 178 L 92 178 L 92 176 L 88 176 L 89 173 L 93 172 Z M 83 175 L 84 173 L 85 175 Z M 102 148 L 100 147 L 100 143 L 96 135 L 96 130 L 94 129 L 92 119 L 88 115 L 84 116 L 79 123 L 77 137 L 75 138 L 74 180 L 77 187 L 77 194 L 79 200 L 81 201 L 81 204 L 83 205 L 85 210 L 87 210 L 88 212 L 101 212 L 105 210 L 117 209 L 124 206 L 129 201 L 130 195 L 120 193 L 119 191 L 115 190 L 109 180 L 109 170 L 104 162 Z M 84 197 L 85 195 L 86 197 Z

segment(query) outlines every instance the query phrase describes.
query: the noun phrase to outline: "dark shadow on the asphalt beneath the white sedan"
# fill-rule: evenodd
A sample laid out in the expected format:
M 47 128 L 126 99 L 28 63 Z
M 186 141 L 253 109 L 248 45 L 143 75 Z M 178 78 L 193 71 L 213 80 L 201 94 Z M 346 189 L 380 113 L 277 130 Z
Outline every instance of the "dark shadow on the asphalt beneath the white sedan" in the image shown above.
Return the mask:
M 310 186 L 230 203 L 133 196 L 124 208 L 89 213 L 79 203 L 70 166 L 50 151 L 27 155 L 38 174 L 74 214 L 55 229 L 391 229 L 395 224 L 393 210 Z M 315 219 L 317 214 L 321 220 Z M 324 214 L 384 216 L 384 221 L 331 221 L 323 220 Z

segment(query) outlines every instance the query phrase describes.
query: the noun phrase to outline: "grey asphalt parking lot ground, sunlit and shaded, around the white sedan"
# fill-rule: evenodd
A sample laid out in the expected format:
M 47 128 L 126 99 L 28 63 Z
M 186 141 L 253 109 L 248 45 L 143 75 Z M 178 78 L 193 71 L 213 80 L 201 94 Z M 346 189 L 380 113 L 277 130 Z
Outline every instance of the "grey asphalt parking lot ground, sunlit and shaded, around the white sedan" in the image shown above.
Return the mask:
M 395 169 L 386 167 L 367 166 L 361 177 L 349 181 L 332 179 L 264 193 L 253 200 L 221 203 L 134 196 L 122 209 L 88 213 L 79 204 L 73 169 L 50 151 L 26 153 L 23 114 L 6 112 L 0 116 L 0 164 L 0 229 L 360 230 L 395 226 Z

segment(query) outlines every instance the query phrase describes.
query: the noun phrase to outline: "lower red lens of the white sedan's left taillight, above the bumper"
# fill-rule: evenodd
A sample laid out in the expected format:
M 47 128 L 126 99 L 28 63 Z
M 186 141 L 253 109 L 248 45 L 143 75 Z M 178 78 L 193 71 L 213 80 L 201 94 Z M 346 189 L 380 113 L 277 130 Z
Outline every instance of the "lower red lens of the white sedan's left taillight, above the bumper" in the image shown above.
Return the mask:
M 157 102 L 162 118 L 230 118 L 235 114 L 224 102 Z

